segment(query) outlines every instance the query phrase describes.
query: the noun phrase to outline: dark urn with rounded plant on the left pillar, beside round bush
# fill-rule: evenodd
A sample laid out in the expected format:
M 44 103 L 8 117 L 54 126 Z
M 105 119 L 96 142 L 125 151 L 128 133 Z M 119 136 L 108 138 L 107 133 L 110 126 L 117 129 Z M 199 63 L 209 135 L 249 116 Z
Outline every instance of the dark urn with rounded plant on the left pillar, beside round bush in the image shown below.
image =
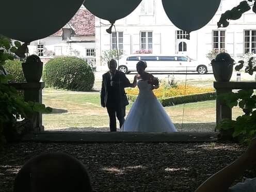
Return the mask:
M 24 77 L 28 83 L 40 82 L 43 72 L 43 62 L 37 55 L 30 55 L 22 63 Z

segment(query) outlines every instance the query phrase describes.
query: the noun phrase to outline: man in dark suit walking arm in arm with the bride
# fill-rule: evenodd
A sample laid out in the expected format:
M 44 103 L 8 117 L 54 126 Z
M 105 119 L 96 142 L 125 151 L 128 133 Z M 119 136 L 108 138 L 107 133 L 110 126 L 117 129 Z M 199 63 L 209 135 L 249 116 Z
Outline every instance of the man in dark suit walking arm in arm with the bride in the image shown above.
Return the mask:
M 116 132 L 116 116 L 121 128 L 125 106 L 129 105 L 124 88 L 131 87 L 132 84 L 123 72 L 117 70 L 115 59 L 108 61 L 108 69 L 109 71 L 102 76 L 101 106 L 107 108 L 110 132 Z

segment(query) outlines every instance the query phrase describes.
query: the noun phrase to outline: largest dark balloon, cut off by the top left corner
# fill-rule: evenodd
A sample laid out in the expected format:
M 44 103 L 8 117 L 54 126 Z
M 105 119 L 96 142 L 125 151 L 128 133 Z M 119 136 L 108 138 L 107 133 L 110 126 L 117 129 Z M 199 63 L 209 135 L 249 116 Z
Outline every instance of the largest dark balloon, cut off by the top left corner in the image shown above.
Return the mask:
M 84 0 L 3 0 L 0 34 L 22 42 L 42 39 L 66 25 Z

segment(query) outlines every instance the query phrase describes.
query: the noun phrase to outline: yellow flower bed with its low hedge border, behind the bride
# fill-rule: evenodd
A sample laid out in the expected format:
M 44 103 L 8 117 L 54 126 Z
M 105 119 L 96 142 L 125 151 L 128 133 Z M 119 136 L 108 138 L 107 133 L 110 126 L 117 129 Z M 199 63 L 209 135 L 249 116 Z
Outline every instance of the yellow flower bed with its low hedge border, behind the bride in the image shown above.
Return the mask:
M 182 103 L 192 103 L 198 101 L 209 101 L 216 99 L 216 93 L 213 88 L 201 88 L 194 86 L 178 86 L 177 88 L 159 87 L 153 90 L 157 99 L 163 106 L 172 106 Z M 126 90 L 129 101 L 134 102 L 138 95 L 138 88 L 129 88 Z

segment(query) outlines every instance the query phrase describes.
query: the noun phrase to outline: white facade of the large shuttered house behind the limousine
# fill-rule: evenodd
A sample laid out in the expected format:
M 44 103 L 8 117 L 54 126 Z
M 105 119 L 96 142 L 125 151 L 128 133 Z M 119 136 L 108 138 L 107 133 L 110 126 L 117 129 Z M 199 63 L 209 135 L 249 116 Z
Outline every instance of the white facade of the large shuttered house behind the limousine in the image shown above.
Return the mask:
M 247 48 L 251 52 L 255 47 L 256 51 L 256 37 L 253 43 L 253 36 L 256 36 L 256 15 L 251 10 L 244 13 L 241 19 L 230 21 L 228 27 L 217 28 L 220 14 L 237 6 L 239 2 L 241 1 L 222 0 L 214 18 L 203 28 L 191 32 L 190 40 L 183 39 L 183 35 L 178 39 L 178 33 L 183 32 L 168 19 L 161 0 L 142 0 L 130 15 L 116 21 L 116 30 L 121 37 L 116 38 L 106 33 L 109 22 L 95 18 L 96 64 L 106 64 L 101 60 L 102 53 L 115 48 L 115 38 L 119 40 L 118 46 L 126 55 L 146 47 L 146 50 L 152 49 L 154 54 L 183 53 L 190 58 L 210 62 L 206 54 L 216 48 L 225 49 L 233 58 L 242 57 Z M 114 27 L 112 31 L 115 31 Z M 248 36 L 247 40 L 245 36 Z M 245 40 L 249 42 L 246 43 Z

